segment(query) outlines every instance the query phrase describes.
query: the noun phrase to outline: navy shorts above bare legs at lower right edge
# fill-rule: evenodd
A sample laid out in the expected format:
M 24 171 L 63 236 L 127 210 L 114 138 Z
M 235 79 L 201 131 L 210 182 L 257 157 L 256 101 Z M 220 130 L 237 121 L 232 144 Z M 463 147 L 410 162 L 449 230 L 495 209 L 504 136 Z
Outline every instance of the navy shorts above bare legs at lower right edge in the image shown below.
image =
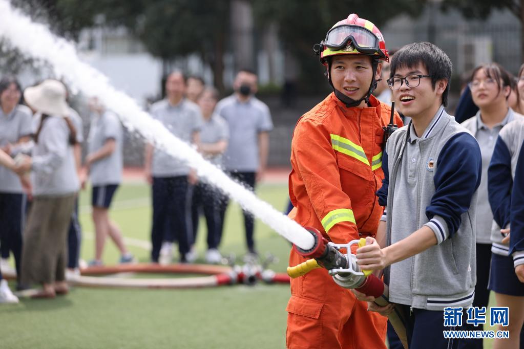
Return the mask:
M 488 289 L 502 295 L 524 296 L 524 284 L 515 274 L 513 257 L 492 254 Z

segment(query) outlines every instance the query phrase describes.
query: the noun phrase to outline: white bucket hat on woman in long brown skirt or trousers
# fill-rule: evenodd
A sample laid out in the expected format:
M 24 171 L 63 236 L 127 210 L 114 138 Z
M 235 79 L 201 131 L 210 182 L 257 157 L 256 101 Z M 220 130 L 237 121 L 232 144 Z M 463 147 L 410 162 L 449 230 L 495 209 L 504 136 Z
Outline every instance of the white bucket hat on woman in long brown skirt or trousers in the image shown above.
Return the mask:
M 66 117 L 69 115 L 66 94 L 65 86 L 60 81 L 45 80 L 39 85 L 27 87 L 24 99 L 32 109 L 42 114 Z

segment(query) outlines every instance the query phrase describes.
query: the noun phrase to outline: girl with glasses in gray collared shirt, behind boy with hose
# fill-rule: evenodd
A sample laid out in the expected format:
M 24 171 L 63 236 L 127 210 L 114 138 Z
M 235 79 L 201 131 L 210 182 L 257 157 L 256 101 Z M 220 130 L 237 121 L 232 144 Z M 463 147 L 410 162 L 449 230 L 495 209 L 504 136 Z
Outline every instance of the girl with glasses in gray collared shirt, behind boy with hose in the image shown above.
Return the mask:
M 489 302 L 489 269 L 492 252 L 499 253 L 497 246 L 502 237 L 500 228 L 492 231 L 493 213 L 488 201 L 488 166 L 500 130 L 508 122 L 521 118 L 520 114 L 508 107 L 511 91 L 511 76 L 497 63 L 477 66 L 468 84 L 473 103 L 479 108 L 477 114 L 464 121 L 462 126 L 470 130 L 482 153 L 482 177 L 478 187 L 476 215 L 476 265 L 477 284 L 475 285 L 474 307 L 487 307 Z M 492 246 L 492 234 L 496 243 Z M 500 238 L 500 239 L 499 239 Z M 507 246 L 505 246 L 507 249 Z M 464 330 L 482 330 L 482 325 L 475 327 L 463 321 Z M 482 348 L 482 339 L 461 339 L 461 348 Z

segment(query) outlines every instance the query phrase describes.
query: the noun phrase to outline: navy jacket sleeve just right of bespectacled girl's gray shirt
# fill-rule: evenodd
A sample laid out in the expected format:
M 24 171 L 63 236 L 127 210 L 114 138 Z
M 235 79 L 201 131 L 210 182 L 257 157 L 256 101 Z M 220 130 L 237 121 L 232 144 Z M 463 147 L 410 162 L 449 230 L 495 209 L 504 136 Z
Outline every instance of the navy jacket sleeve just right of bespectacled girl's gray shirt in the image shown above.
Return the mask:
M 488 167 L 488 199 L 493 218 L 503 229 L 509 224 L 512 185 L 511 154 L 499 136 Z

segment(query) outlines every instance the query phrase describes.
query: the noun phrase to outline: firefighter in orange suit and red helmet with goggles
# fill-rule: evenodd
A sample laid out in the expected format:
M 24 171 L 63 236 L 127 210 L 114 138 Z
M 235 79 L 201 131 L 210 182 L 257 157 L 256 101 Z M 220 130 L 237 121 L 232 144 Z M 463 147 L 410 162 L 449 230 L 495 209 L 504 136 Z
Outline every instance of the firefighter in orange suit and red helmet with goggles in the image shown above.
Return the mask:
M 375 196 L 384 179 L 383 127 L 391 108 L 371 94 L 380 78 L 379 60 L 389 62 L 384 38 L 372 22 L 351 14 L 314 50 L 334 92 L 294 130 L 290 217 L 334 243 L 375 237 L 383 214 Z M 401 126 L 398 114 L 395 121 Z M 304 261 L 291 251 L 290 266 Z M 326 269 L 291 280 L 286 310 L 290 349 L 386 348 L 387 319 L 368 312 L 367 303 L 336 285 Z

